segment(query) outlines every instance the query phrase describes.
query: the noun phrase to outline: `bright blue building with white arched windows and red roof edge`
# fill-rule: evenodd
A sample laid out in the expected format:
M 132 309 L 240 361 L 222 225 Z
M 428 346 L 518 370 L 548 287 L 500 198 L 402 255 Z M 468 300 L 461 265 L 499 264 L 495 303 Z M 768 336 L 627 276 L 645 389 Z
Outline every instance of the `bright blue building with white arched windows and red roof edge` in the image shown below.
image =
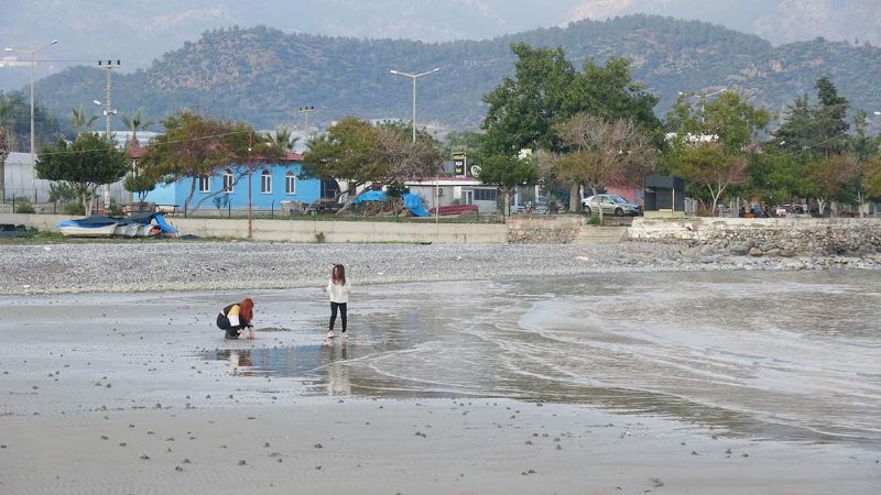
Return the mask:
M 303 155 L 298 153 L 287 153 L 284 158 L 273 163 L 255 161 L 250 177 L 251 208 L 280 211 L 286 209 L 293 201 L 309 204 L 317 200 L 322 195 L 322 182 L 298 177 L 302 161 Z M 196 191 L 189 202 L 189 212 L 211 211 L 218 208 L 248 209 L 248 167 L 238 164 L 218 168 L 214 175 L 198 177 Z M 161 209 L 182 209 L 189 196 L 191 187 L 191 177 L 174 184 L 160 184 L 150 191 L 146 201 L 156 204 Z M 217 194 L 218 191 L 221 193 Z

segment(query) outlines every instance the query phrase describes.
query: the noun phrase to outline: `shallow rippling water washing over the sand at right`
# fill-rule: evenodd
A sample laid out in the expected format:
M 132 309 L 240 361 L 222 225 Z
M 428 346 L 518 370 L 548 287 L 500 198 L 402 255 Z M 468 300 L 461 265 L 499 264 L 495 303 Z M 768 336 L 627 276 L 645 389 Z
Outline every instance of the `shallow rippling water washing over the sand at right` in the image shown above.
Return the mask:
M 227 349 L 309 394 L 479 396 L 881 446 L 878 272 L 653 273 L 365 287 L 346 340 Z M 322 323 L 323 324 L 323 323 Z

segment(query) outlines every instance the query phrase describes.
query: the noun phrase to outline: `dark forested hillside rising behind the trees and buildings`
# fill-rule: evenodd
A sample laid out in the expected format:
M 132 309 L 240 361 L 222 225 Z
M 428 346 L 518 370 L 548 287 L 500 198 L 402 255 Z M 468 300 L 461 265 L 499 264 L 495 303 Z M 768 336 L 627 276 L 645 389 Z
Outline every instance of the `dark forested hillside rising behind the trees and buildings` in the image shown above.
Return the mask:
M 115 73 L 113 106 L 121 112 L 143 107 L 154 119 L 183 107 L 198 108 L 259 128 L 302 123 L 302 106 L 315 106 L 311 120 L 323 124 L 347 114 L 406 120 L 411 81 L 389 70 L 440 67 L 418 80 L 420 122 L 476 128 L 486 113 L 482 96 L 513 69 L 514 42 L 562 46 L 577 65 L 586 57 L 628 58 L 634 79 L 661 98 L 659 114 L 678 91 L 721 87 L 779 111 L 796 96 L 813 92 L 822 76 L 829 76 L 855 109 L 870 114 L 881 110 L 879 48 L 824 40 L 774 47 L 711 24 L 646 15 L 437 44 L 285 34 L 267 28 L 211 31 L 148 70 Z M 36 92 L 58 116 L 67 116 L 74 107 L 102 99 L 104 86 L 102 70 L 78 67 L 40 80 Z

